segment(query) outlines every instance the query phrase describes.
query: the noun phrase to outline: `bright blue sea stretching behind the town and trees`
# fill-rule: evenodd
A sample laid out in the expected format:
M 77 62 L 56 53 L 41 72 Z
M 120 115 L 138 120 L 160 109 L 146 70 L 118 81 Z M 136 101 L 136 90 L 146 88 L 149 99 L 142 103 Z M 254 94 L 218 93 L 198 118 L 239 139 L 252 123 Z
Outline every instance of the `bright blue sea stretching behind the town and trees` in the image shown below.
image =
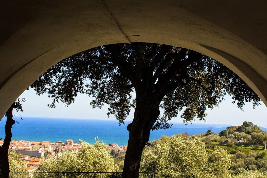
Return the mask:
M 14 117 L 12 127 L 12 140 L 27 141 L 63 141 L 68 139 L 84 140 L 93 143 L 95 138 L 103 140 L 105 144 L 117 143 L 127 145 L 129 132 L 126 130 L 131 121 L 119 126 L 117 120 L 93 120 L 93 119 L 70 119 L 70 118 L 42 118 L 42 117 Z M 0 121 L 0 138 L 5 137 L 6 118 Z M 160 138 L 162 135 L 172 136 L 177 133 L 188 132 L 190 135 L 205 133 L 208 129 L 220 132 L 229 125 L 217 124 L 188 124 L 173 123 L 170 129 L 153 130 L 150 141 Z

